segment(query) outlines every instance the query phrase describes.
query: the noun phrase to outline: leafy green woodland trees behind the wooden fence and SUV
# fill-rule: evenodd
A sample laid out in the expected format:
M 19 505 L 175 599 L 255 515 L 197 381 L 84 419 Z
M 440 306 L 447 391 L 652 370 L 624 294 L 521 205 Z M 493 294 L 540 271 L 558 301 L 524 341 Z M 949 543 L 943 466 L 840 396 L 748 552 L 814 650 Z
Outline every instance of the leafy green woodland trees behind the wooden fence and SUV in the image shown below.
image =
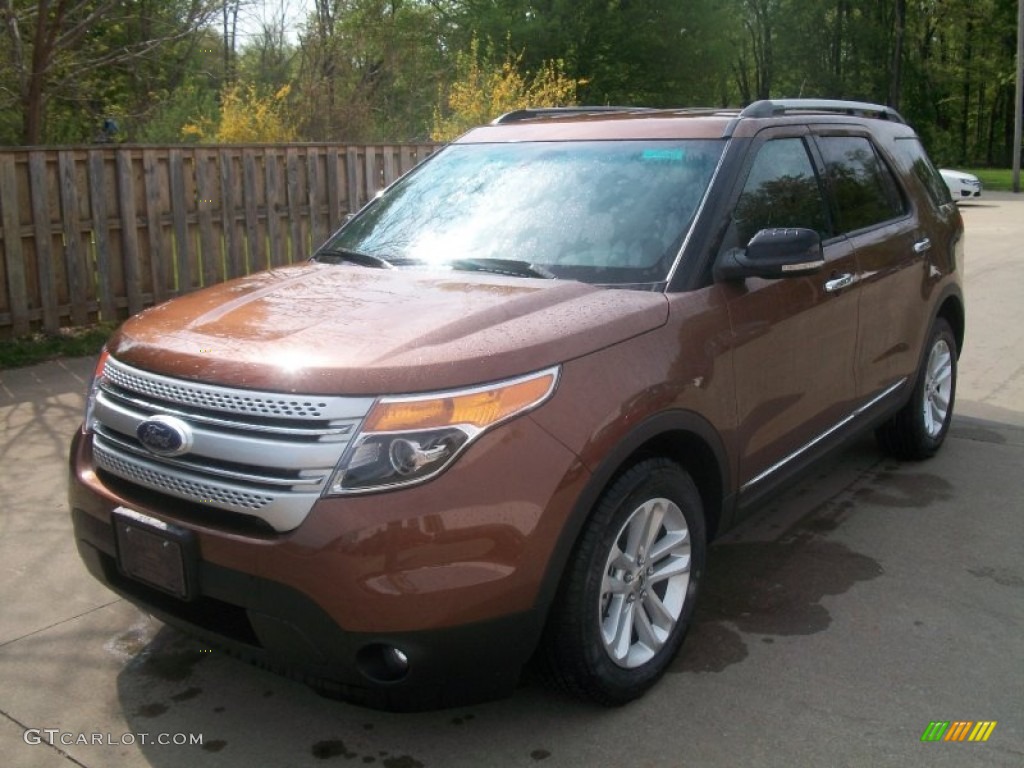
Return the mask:
M 307 0 L 294 42 L 288 2 L 243 44 L 257 0 L 0 0 L 0 143 L 209 138 L 222 94 L 286 86 L 297 137 L 419 140 L 494 117 L 486 88 L 541 103 L 542 76 L 583 103 L 888 102 L 945 163 L 1013 146 L 1017 0 Z

